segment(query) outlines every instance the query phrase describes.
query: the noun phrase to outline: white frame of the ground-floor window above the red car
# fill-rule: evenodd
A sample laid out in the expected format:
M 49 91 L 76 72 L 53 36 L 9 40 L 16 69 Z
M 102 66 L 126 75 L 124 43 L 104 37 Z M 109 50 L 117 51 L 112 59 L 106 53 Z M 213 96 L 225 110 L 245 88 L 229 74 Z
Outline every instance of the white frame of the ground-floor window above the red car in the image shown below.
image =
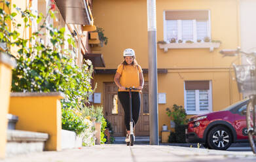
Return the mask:
M 204 114 L 204 113 L 209 113 L 212 112 L 212 89 L 211 89 L 211 80 L 209 80 L 209 91 L 208 91 L 208 96 L 209 96 L 209 110 L 208 111 L 200 111 L 200 105 L 199 105 L 199 89 L 195 89 L 196 91 L 196 110 L 191 111 L 187 110 L 187 90 L 186 90 L 186 83 L 184 82 L 184 108 L 185 111 L 188 115 L 194 115 L 194 114 Z

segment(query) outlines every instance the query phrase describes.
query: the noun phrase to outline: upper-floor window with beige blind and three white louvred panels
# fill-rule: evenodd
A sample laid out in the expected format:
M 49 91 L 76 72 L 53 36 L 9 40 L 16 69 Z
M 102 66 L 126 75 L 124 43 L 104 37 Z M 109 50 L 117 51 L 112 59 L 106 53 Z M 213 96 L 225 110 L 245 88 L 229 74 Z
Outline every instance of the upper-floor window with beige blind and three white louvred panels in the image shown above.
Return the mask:
M 208 10 L 168 10 L 164 11 L 164 40 L 171 39 L 204 41 L 210 38 L 210 21 Z

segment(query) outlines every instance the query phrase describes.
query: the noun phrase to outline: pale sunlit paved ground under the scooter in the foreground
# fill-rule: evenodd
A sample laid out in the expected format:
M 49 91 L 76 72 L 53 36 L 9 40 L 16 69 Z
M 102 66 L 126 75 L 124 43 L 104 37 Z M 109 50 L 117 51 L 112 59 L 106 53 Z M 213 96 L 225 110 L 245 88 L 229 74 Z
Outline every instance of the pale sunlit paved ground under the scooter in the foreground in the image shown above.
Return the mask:
M 23 161 L 188 161 L 188 162 L 244 162 L 256 161 L 252 152 L 232 152 L 207 150 L 202 148 L 185 148 L 181 146 L 151 146 L 124 144 L 105 144 L 101 146 L 82 147 L 81 149 L 63 150 L 61 152 L 41 152 L 29 155 L 8 157 L 5 162 Z M 2 161 L 1 161 L 2 162 Z

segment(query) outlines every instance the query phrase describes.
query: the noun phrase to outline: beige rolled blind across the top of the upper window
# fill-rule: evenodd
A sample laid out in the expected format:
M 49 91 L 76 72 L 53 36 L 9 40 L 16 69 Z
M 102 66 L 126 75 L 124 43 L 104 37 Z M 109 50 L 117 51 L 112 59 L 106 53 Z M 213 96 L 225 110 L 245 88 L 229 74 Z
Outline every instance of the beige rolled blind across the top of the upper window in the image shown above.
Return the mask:
M 170 10 L 166 11 L 166 20 L 209 20 L 208 10 Z

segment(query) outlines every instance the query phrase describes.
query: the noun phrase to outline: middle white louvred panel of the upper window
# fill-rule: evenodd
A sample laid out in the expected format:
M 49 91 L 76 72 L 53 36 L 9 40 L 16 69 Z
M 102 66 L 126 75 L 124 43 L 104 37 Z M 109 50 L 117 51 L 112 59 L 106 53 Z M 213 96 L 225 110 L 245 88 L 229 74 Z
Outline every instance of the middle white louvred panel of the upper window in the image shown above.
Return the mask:
M 182 20 L 182 39 L 193 40 L 193 21 Z

